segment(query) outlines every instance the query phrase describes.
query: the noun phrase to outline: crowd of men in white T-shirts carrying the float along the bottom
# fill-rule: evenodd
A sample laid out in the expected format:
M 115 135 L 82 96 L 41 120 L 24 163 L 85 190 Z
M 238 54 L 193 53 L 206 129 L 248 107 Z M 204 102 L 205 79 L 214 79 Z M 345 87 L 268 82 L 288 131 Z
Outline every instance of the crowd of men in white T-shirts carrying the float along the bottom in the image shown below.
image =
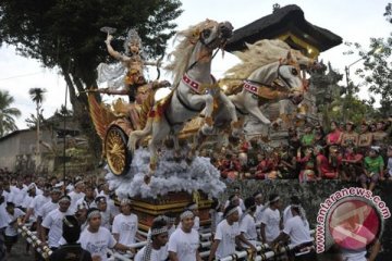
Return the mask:
M 201 260 L 199 232 L 205 227 L 200 226 L 196 202 L 181 213 L 168 212 L 155 219 L 147 245 L 135 249 L 138 216 L 133 213 L 132 200 L 122 199 L 117 206 L 106 183 L 91 184 L 82 177 L 69 184 L 54 177 L 50 182 L 38 178 L 33 183 L 29 176 L 1 181 L 0 229 L 7 254 L 17 241 L 17 225 L 29 224 L 44 246 L 53 251 L 50 260 L 105 261 L 108 249 L 135 261 Z M 253 254 L 264 244 L 275 249 L 289 240 L 295 248 L 282 260 L 317 260 L 309 222 L 296 196 L 282 209 L 277 194 L 255 192 L 243 200 L 240 188 L 235 188 L 225 202 L 213 199 L 209 214 L 212 236 L 208 260 L 237 250 Z M 365 258 L 366 250 L 360 254 Z M 36 260 L 41 257 L 36 254 Z

